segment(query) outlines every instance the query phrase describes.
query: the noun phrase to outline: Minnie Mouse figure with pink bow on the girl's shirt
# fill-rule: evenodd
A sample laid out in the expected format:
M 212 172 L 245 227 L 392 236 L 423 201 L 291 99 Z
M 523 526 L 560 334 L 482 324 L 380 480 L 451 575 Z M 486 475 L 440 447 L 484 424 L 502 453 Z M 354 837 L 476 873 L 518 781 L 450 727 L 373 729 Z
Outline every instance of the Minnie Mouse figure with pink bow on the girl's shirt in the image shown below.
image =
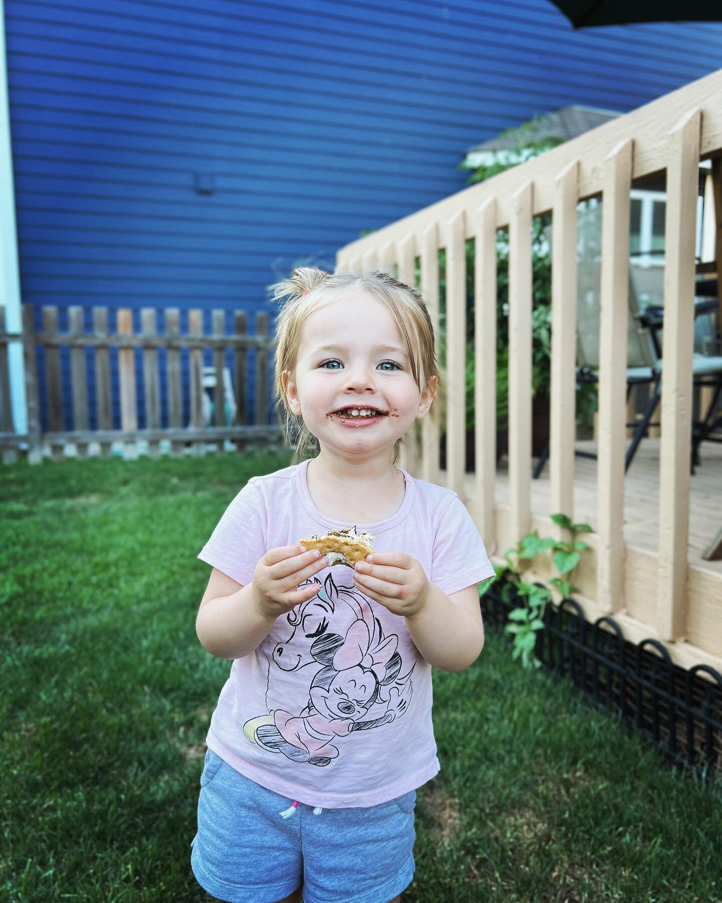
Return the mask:
M 354 593 L 352 604 L 356 620 L 345 637 L 324 634 L 311 644 L 310 655 L 321 667 L 310 683 L 308 704 L 298 715 L 276 709 L 246 721 L 248 740 L 294 762 L 325 766 L 338 757 L 333 740 L 382 727 L 408 709 L 415 663 L 399 677 L 398 637 L 384 638 L 365 597 Z M 383 713 L 366 719 L 374 705 Z

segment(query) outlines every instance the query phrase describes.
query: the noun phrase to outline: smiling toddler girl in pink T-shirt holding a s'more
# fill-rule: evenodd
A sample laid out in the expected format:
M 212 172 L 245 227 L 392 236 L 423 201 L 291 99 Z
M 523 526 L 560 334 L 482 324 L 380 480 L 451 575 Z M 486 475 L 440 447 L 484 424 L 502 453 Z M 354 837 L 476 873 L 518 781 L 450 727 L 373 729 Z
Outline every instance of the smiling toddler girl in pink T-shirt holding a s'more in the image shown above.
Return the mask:
M 439 383 L 421 294 L 311 268 L 273 290 L 287 434 L 319 452 L 250 479 L 199 554 L 199 640 L 233 665 L 191 866 L 222 900 L 388 903 L 413 876 L 416 788 L 440 769 L 431 666 L 481 652 L 494 568 L 457 494 L 395 466 Z M 347 526 L 375 537 L 353 569 L 298 545 Z

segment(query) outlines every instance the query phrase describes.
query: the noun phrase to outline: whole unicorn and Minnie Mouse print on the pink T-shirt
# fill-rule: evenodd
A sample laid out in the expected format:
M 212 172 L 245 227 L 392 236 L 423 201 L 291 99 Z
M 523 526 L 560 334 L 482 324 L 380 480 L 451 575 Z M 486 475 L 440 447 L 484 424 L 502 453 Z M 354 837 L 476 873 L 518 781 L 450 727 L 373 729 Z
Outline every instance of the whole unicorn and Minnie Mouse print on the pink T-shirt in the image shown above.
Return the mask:
M 354 587 L 338 587 L 330 574 L 323 587 L 318 580 L 301 585 L 310 582 L 319 584 L 319 592 L 289 612 L 292 634 L 274 644 L 268 680 L 270 685 L 274 667 L 299 671 L 315 666 L 308 702 L 298 713 L 269 709 L 246 721 L 244 732 L 268 752 L 326 766 L 338 757 L 338 738 L 383 727 L 406 712 L 416 664 L 399 676 L 403 663 L 398 637 L 384 637 L 366 596 Z

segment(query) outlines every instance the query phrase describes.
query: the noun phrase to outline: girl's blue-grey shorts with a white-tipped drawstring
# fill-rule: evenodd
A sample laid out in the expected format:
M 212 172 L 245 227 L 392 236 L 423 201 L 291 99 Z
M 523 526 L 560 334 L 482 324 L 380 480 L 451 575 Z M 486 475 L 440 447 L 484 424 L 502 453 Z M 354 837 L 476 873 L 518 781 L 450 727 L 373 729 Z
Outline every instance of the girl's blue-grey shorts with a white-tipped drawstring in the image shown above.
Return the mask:
M 412 881 L 416 791 L 368 807 L 323 809 L 256 784 L 208 749 L 190 866 L 230 903 L 388 903 Z

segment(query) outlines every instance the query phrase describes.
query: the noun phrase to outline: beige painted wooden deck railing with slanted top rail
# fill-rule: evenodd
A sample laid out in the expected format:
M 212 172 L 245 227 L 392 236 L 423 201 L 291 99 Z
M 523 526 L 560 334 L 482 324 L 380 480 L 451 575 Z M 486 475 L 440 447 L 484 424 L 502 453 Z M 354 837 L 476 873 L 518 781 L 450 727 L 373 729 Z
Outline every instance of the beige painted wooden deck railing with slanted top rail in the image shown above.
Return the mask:
M 634 586 L 643 579 L 641 572 L 625 569 L 624 541 L 630 190 L 633 180 L 666 171 L 662 490 L 656 588 L 647 597 L 656 600 L 656 610 L 647 606 L 637 619 L 666 643 L 686 638 L 716 656 L 722 656 L 720 599 L 707 616 L 697 612 L 693 631 L 687 550 L 699 161 L 720 154 L 722 70 L 381 228 L 343 247 L 337 260 L 339 271 L 393 272 L 395 265 L 398 277 L 413 284 L 419 258 L 421 290 L 438 347 L 438 254 L 440 248 L 446 250 L 446 485 L 467 504 L 487 548 L 503 553 L 532 529 L 532 218 L 551 212 L 553 222 L 549 513 L 570 514 L 576 435 L 577 206 L 580 200 L 602 197 L 597 526 L 592 550 L 596 561 L 581 579 L 588 602 L 594 603 L 594 615 L 623 612 L 629 608 Z M 509 229 L 508 510 L 495 506 L 495 242 L 499 228 Z M 469 239 L 475 243 L 476 268 L 477 465 L 474 490 L 467 495 L 465 242 Z M 419 439 L 414 433 L 404 437 L 402 464 L 421 479 L 440 482 L 439 431 L 429 417 L 421 422 Z M 552 529 L 556 528 L 549 522 Z M 648 563 L 645 567 L 646 577 L 654 576 Z M 714 585 L 718 589 L 722 584 Z M 634 626 L 631 620 L 629 626 Z M 702 637 L 715 626 L 717 639 Z M 649 630 L 645 636 L 650 636 Z

